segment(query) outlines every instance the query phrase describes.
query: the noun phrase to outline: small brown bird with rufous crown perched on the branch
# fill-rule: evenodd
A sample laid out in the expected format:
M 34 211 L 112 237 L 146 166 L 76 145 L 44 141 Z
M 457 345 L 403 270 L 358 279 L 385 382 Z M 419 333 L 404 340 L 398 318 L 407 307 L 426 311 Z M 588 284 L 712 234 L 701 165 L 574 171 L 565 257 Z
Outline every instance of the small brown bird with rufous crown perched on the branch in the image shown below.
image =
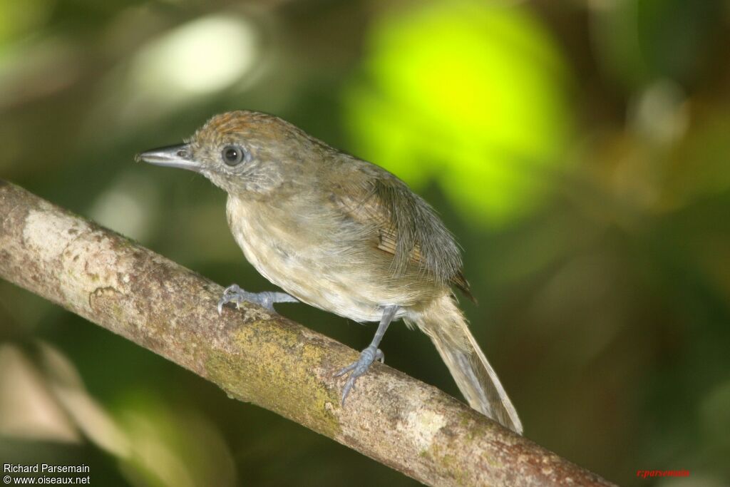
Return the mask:
M 453 289 L 472 298 L 461 249 L 435 210 L 380 166 L 337 150 L 274 115 L 237 110 L 213 116 L 182 144 L 147 150 L 138 161 L 188 169 L 228 193 L 226 217 L 250 264 L 285 292 L 231 285 L 218 302 L 273 310 L 303 302 L 366 323 L 372 342 L 347 375 L 342 407 L 359 377 L 384 361 L 380 342 L 393 321 L 423 331 L 475 410 L 523 433 Z M 473 298 L 472 298 L 473 299 Z

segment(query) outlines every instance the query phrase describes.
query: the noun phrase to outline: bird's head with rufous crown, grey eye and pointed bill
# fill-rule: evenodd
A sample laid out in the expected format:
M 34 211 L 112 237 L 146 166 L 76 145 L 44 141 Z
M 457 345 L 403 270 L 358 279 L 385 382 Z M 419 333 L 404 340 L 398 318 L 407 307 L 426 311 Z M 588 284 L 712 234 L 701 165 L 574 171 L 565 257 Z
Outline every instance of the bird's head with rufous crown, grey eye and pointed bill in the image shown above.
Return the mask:
M 311 183 L 328 150 L 281 118 L 237 111 L 215 115 L 185 143 L 147 150 L 137 160 L 199 172 L 240 197 L 265 198 Z

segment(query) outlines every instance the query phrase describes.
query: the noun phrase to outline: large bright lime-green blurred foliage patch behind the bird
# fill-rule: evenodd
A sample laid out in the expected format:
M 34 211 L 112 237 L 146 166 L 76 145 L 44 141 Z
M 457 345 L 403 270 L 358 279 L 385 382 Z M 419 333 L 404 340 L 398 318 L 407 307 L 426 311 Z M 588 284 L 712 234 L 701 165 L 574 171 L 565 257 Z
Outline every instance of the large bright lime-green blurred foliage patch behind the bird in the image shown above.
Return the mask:
M 528 9 L 456 1 L 374 23 L 365 80 L 346 93 L 358 154 L 458 210 L 503 225 L 565 166 L 572 110 L 561 53 Z M 548 181 L 546 181 L 546 179 Z

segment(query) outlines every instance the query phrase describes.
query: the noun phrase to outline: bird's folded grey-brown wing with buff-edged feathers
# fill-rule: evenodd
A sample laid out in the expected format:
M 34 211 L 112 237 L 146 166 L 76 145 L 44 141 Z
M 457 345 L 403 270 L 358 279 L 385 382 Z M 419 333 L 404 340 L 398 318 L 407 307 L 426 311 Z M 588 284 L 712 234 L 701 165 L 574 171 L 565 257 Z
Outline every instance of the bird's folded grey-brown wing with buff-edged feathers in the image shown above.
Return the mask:
M 474 300 L 461 271 L 458 246 L 428 203 L 377 166 L 361 166 L 337 179 L 331 192 L 334 203 L 346 218 L 372 232 L 377 249 L 393 256 L 396 275 L 418 266 Z

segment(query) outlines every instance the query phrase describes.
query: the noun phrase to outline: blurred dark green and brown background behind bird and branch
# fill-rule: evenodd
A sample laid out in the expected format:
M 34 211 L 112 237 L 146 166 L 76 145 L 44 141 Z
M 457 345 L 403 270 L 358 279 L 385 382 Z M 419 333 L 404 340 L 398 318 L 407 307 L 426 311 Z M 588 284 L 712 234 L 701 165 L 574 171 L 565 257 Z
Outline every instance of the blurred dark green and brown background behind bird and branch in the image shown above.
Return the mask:
M 729 28 L 727 1 L 2 1 L 0 176 L 266 290 L 221 191 L 133 158 L 216 112 L 280 115 L 437 208 L 527 437 L 622 485 L 727 485 Z M 279 310 L 353 348 L 374 332 Z M 423 334 L 382 348 L 458 396 Z M 104 486 L 415 483 L 0 282 L 9 461 Z

